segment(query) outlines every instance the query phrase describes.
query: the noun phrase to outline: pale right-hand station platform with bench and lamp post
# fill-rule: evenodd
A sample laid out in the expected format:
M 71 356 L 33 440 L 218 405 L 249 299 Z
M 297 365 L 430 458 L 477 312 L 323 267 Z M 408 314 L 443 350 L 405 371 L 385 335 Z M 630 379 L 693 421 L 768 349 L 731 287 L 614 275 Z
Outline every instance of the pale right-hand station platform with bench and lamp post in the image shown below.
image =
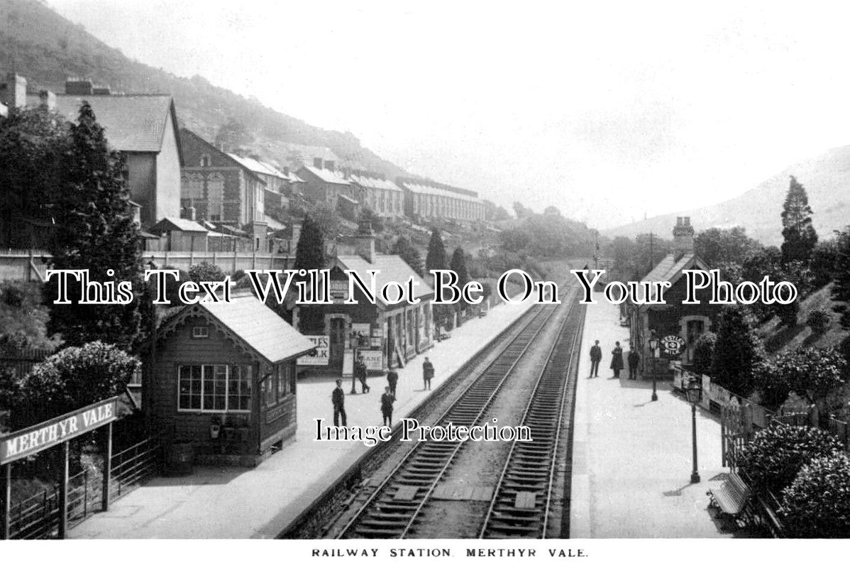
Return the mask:
M 707 510 L 711 487 L 722 482 L 720 423 L 697 409 L 698 467 L 691 484 L 691 406 L 672 383 L 629 380 L 629 329 L 619 307 L 595 293 L 587 306 L 575 394 L 571 538 L 731 537 Z M 590 348 L 602 347 L 599 377 L 590 374 Z M 609 368 L 615 341 L 626 368 L 614 378 Z

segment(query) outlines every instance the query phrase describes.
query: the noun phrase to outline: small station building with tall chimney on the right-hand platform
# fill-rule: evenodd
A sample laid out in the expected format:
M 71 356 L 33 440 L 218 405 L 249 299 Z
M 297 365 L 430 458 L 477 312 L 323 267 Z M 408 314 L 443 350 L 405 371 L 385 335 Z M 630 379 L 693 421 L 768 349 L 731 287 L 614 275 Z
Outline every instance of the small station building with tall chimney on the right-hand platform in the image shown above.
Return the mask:
M 672 286 L 664 293 L 666 304 L 638 305 L 626 304 L 626 315 L 630 326 L 632 349 L 639 349 L 641 369 L 644 376 L 655 374 L 658 378 L 672 378 L 669 360 L 655 357 L 649 347 L 649 339 L 655 332 L 657 338 L 677 335 L 685 344 L 681 355 L 683 365 L 694 361 L 694 346 L 700 336 L 710 331 L 711 323 L 722 306 L 709 304 L 708 290 L 698 290 L 696 298 L 700 304 L 683 304 L 686 298 L 683 270 L 711 270 L 694 253 L 694 227 L 689 217 L 678 217 L 673 227 L 673 250 L 667 254 L 641 281 L 669 281 Z

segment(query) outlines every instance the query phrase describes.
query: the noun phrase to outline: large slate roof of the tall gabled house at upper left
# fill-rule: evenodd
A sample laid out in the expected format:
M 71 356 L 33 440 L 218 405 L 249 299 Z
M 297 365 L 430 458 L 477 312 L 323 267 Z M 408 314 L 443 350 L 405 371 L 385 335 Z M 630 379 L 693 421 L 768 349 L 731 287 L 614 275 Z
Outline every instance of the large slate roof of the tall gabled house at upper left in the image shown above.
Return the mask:
M 161 151 L 166 118 L 174 111 L 170 94 L 57 94 L 56 111 L 76 121 L 83 100 L 88 100 L 106 138 L 116 150 Z M 176 116 L 171 118 L 179 145 Z

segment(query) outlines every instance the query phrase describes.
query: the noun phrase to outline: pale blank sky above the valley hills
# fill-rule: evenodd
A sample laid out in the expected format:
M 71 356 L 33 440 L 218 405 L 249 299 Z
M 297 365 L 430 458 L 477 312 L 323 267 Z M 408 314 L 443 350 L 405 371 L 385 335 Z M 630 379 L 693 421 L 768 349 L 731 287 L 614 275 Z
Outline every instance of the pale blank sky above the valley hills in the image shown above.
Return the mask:
M 133 59 L 354 133 L 411 173 L 599 229 L 850 144 L 841 3 L 48 4 Z

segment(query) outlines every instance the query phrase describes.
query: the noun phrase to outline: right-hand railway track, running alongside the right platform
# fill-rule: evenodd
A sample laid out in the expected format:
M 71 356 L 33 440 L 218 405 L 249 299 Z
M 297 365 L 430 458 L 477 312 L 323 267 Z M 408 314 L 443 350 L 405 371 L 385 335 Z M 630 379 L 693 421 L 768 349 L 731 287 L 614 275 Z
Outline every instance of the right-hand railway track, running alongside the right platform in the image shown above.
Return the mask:
M 531 440 L 513 441 L 479 538 L 547 537 L 566 412 L 570 429 L 572 423 L 575 381 L 571 374 L 578 361 L 583 314 L 583 309 L 574 309 L 564 321 L 523 414 L 521 423 L 530 428 Z

